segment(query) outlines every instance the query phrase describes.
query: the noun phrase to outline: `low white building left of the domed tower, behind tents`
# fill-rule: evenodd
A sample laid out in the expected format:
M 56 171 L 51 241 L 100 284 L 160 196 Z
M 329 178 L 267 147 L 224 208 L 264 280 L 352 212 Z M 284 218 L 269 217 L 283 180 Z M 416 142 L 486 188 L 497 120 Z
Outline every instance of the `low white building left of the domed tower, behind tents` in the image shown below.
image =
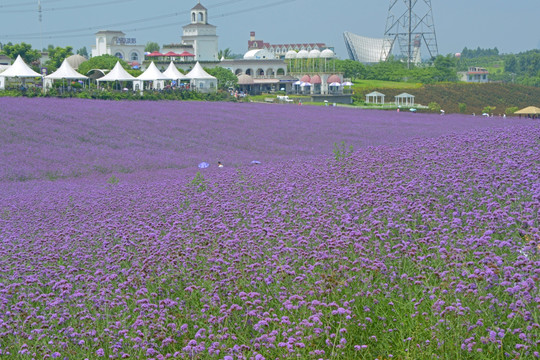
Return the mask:
M 126 38 L 121 31 L 99 31 L 96 33 L 96 45 L 92 45 L 92 57 L 113 55 L 128 63 L 142 63 L 144 45 L 137 45 L 134 38 Z

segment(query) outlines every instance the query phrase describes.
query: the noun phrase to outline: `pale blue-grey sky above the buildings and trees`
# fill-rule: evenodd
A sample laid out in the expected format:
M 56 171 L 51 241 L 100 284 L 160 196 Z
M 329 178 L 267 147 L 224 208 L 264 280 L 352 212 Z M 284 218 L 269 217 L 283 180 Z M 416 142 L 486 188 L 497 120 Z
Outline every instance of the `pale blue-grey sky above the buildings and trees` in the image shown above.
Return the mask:
M 424 2 L 428 0 L 418 0 Z M 0 0 L 0 43 L 33 48 L 86 46 L 95 33 L 120 30 L 138 45 L 180 43 L 197 0 Z M 389 0 L 202 0 L 217 26 L 219 49 L 247 51 L 250 31 L 270 44 L 325 43 L 348 58 L 343 32 L 382 38 Z M 540 0 L 432 0 L 439 53 L 497 47 L 501 53 L 540 48 Z

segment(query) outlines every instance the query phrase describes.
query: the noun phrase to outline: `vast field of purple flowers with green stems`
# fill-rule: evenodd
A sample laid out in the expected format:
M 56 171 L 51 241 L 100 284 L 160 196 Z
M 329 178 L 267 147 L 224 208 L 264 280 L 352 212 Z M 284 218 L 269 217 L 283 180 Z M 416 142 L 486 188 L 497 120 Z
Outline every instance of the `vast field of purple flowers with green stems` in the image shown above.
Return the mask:
M 540 358 L 538 121 L 0 98 L 0 154 L 0 358 Z

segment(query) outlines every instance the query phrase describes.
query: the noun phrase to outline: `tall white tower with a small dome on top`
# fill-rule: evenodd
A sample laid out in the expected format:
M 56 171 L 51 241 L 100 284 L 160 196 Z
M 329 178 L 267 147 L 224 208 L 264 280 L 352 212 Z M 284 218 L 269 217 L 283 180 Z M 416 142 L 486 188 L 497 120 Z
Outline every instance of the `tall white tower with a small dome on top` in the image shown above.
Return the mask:
M 219 61 L 217 28 L 208 23 L 208 9 L 200 1 L 191 9 L 190 20 L 182 28 L 182 43 L 193 46 L 196 61 Z

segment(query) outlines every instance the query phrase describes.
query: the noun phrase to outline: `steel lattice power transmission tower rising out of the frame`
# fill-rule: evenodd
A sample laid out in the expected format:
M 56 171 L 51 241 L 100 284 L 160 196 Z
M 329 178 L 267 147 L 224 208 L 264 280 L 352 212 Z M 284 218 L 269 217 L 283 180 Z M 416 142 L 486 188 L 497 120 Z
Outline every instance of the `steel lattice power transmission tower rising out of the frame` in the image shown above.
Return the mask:
M 420 46 L 425 44 L 430 58 L 438 55 L 431 0 L 390 0 L 384 37 L 390 47 L 383 49 L 384 58 L 399 46 L 407 65 L 420 62 Z M 397 49 L 396 49 L 397 50 Z

